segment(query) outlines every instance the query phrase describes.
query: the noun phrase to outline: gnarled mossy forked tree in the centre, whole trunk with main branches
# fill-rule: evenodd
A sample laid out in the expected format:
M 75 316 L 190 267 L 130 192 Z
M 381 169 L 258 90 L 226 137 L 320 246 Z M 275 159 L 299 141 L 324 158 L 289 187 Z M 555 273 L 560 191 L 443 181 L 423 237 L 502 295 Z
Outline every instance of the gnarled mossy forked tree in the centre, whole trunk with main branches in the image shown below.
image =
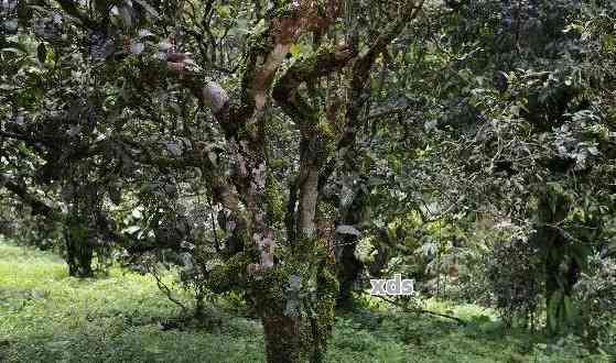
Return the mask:
M 220 85 L 213 81 L 204 85 L 199 75 L 191 74 L 191 68 L 181 61 L 185 56 L 167 56 L 167 68 L 179 72 L 181 81 L 213 112 L 224 131 L 233 164 L 233 173 L 221 170 L 207 156 L 206 147 L 201 155 L 193 155 L 214 200 L 225 208 L 228 217 L 226 262 L 212 272 L 212 288 L 220 292 L 245 288 L 261 316 L 269 362 L 321 362 L 338 294 L 328 246 L 317 238 L 316 231 L 322 188 L 333 173 L 331 166 L 342 155 L 338 152 L 355 143 L 361 122 L 360 100 L 365 98 L 371 66 L 419 13 L 423 1 L 417 4 L 409 1 L 400 19 L 377 36 L 361 56 L 349 44 L 323 47 L 314 56 L 294 63 L 274 86 L 277 73 L 299 36 L 304 32 L 322 32 L 341 9 L 337 0 L 277 3 L 272 12 L 277 15 L 268 21 L 267 30 L 246 54 L 238 100 L 231 101 L 233 94 Z M 322 120 L 318 107 L 303 99 L 300 89 L 341 72 L 355 58 L 353 105 L 348 107 L 345 127 L 334 128 L 327 124 L 331 120 Z M 270 91 L 301 134 L 300 166 L 289 194 L 277 189 L 268 163 L 266 110 Z M 287 218 L 282 221 L 272 212 L 273 200 L 288 196 Z M 275 232 L 282 224 L 289 241 L 283 254 L 274 254 L 281 234 Z

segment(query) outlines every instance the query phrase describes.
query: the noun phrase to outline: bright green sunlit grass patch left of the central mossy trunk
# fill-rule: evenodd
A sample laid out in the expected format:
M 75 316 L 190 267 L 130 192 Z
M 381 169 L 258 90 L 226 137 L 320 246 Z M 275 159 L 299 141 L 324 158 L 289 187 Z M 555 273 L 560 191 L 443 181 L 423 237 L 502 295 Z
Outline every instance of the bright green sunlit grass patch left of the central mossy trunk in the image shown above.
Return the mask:
M 68 277 L 61 258 L 0 245 L 0 356 L 9 362 L 252 362 L 263 356 L 256 322 L 227 331 L 163 331 L 179 314 L 145 276 Z M 239 331 L 233 331 L 233 329 Z M 0 359 L 2 361 L 2 359 Z

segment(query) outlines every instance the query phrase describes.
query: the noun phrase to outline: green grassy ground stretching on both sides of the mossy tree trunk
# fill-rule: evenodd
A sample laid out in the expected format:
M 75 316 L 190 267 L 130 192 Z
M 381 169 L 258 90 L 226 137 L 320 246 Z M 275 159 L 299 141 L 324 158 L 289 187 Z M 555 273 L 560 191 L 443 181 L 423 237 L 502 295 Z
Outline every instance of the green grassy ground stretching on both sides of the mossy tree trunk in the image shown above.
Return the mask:
M 369 309 L 336 320 L 328 362 L 608 362 L 568 341 L 506 331 L 476 306 L 433 304 L 468 321 Z M 165 329 L 179 309 L 148 276 L 76 279 L 45 252 L 0 242 L 0 362 L 261 362 L 256 320 L 217 310 L 215 329 Z

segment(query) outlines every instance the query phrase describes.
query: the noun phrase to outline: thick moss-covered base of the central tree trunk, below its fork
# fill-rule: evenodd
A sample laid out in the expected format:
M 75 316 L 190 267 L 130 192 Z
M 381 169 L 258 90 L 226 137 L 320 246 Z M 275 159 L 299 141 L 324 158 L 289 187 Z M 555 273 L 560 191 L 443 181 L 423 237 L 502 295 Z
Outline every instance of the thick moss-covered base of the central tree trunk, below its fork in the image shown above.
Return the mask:
M 256 286 L 268 362 L 325 359 L 338 283 L 324 255 L 311 255 L 292 268 L 273 268 Z

